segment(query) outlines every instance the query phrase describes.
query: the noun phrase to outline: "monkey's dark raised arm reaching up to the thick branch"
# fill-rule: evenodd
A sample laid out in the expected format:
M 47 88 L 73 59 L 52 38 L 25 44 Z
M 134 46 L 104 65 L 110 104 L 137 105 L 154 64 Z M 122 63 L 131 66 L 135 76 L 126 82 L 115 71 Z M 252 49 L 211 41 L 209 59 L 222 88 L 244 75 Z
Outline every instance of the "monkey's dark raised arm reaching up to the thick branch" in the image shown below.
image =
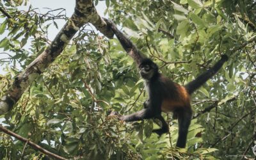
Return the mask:
M 115 33 L 120 44 L 124 50 L 136 61 L 137 64 L 140 64 L 140 61 L 143 59 L 143 54 L 137 49 L 136 45 L 132 44 L 131 40 L 127 38 L 122 31 L 116 28 L 116 25 L 108 19 L 104 19 L 108 24 L 108 27 Z

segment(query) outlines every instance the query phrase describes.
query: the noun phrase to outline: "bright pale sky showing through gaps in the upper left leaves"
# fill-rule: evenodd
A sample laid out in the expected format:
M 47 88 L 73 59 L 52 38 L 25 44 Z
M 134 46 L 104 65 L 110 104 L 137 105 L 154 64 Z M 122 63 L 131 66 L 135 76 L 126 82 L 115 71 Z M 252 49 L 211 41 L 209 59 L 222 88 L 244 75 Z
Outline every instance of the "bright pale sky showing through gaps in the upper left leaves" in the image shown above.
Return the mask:
M 76 0 L 29 0 L 28 6 L 21 6 L 19 7 L 20 10 L 28 10 L 29 5 L 33 8 L 38 8 L 41 13 L 45 13 L 49 11 L 49 9 L 45 8 L 51 8 L 52 10 L 58 9 L 58 8 L 65 8 L 67 17 L 70 17 L 72 13 L 74 12 Z M 104 16 L 104 10 L 106 9 L 106 2 L 105 1 L 99 1 L 99 3 L 96 6 L 97 12 L 100 16 Z M 0 24 L 3 22 L 4 19 L 0 19 Z M 58 24 L 59 29 L 56 29 L 53 25 L 50 26 L 48 30 L 48 38 L 50 40 L 53 40 L 54 37 L 57 35 L 57 33 L 60 31 L 62 26 L 65 24 L 65 20 L 56 20 L 56 23 Z M 0 41 L 6 36 L 6 33 L 3 35 L 0 35 Z M 28 46 L 24 46 L 25 48 Z M 3 49 L 0 49 L 0 52 L 3 52 Z M 0 54 L 0 59 L 6 58 L 4 54 Z M 3 67 L 0 65 L 0 74 L 4 74 Z

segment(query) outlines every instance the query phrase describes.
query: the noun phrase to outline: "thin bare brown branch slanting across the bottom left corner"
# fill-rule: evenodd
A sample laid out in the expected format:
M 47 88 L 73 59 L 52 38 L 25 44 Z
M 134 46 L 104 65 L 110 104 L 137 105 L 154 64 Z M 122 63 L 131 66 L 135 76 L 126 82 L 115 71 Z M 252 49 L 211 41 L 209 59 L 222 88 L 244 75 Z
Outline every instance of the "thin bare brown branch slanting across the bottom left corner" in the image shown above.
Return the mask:
M 33 143 L 32 141 L 29 141 L 28 139 L 20 136 L 19 134 L 16 134 L 15 132 L 12 132 L 12 131 L 6 129 L 2 125 L 0 125 L 0 131 L 4 132 L 4 133 L 6 133 L 6 134 L 8 134 L 10 136 L 15 137 L 15 138 L 17 138 L 20 141 L 23 141 L 24 143 L 28 144 L 29 146 L 31 146 L 35 150 L 39 150 L 40 152 L 42 152 L 43 154 L 45 154 L 47 156 L 50 156 L 50 157 L 55 158 L 55 159 L 66 160 L 65 157 L 58 156 L 57 154 L 54 154 L 52 152 L 49 152 L 48 150 L 45 150 L 44 148 L 40 147 L 39 145 L 36 145 L 36 143 Z

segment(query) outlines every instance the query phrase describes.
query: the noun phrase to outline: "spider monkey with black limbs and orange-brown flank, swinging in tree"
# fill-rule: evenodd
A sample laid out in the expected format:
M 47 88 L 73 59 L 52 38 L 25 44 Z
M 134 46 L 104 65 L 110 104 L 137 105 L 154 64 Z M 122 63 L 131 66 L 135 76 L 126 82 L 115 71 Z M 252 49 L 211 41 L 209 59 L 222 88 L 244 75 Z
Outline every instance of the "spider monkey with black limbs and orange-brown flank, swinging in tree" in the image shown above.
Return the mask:
M 134 48 L 135 45 L 132 44 L 131 40 L 119 31 L 111 20 L 105 19 L 105 21 L 108 27 L 113 30 L 125 51 L 128 52 Z M 138 67 L 140 76 L 145 80 L 148 100 L 144 102 L 144 108 L 141 111 L 132 113 L 131 115 L 121 116 L 120 120 L 132 122 L 148 118 L 157 118 L 161 121 L 162 127 L 160 129 L 154 129 L 152 132 L 156 132 L 161 136 L 161 134 L 169 131 L 168 124 L 165 122 L 161 112 L 173 112 L 173 117 L 177 118 L 179 123 L 179 136 L 176 147 L 184 148 L 186 146 L 188 128 L 192 118 L 190 95 L 214 76 L 227 60 L 227 55 L 223 54 L 221 59 L 212 68 L 196 77 L 195 80 L 181 86 L 159 73 L 156 63 L 152 60 L 143 58 Z

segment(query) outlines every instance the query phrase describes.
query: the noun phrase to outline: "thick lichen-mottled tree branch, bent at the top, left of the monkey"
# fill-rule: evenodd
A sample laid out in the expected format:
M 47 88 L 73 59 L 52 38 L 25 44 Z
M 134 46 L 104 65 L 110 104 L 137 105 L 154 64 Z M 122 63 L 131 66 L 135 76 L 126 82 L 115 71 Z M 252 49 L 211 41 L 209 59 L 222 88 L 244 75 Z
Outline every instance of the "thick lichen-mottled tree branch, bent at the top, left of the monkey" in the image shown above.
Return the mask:
M 0 115 L 3 115 L 20 99 L 26 88 L 44 72 L 52 61 L 63 51 L 68 42 L 84 24 L 91 22 L 108 38 L 113 38 L 113 32 L 107 27 L 106 22 L 98 15 L 92 0 L 76 0 L 76 8 L 72 17 L 68 19 L 51 45 L 40 54 L 19 75 L 8 90 L 8 93 L 0 99 Z

